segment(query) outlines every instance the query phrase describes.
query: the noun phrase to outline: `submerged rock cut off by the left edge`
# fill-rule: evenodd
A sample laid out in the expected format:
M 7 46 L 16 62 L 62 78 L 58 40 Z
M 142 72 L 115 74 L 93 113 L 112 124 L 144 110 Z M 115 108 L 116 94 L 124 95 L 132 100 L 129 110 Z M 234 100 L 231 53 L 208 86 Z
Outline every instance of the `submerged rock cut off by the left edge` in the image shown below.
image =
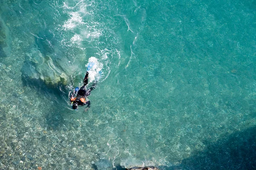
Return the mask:
M 10 37 L 9 29 L 1 18 L 0 8 L 0 58 L 9 57 L 12 48 L 12 39 Z

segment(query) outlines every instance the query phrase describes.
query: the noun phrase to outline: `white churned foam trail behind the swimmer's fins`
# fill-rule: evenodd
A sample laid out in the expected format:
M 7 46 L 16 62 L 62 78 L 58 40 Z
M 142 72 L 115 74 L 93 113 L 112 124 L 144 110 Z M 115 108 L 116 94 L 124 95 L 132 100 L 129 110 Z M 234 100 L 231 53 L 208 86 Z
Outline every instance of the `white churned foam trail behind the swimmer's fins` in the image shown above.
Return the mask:
M 116 39 L 115 32 L 106 26 L 106 23 L 102 22 L 103 20 L 99 22 L 102 16 L 97 12 L 97 8 L 94 8 L 96 5 L 97 3 L 94 1 L 84 0 L 65 0 L 65 2 L 62 3 L 64 13 L 69 17 L 61 24 L 62 31 L 67 31 L 68 35 L 64 37 L 68 39 L 64 39 L 61 43 L 68 49 L 71 47 L 75 47 L 74 49 L 80 48 L 84 53 L 80 53 L 81 51 L 74 51 L 73 55 L 80 58 L 86 56 L 85 53 L 87 48 L 93 48 L 95 57 L 90 57 L 89 62 L 94 62 L 95 65 L 89 71 L 89 82 L 99 79 L 99 72 L 103 67 L 104 77 L 102 77 L 100 81 L 104 81 L 111 71 L 111 62 L 113 61 L 113 58 L 117 57 L 119 59 L 119 63 L 116 63 L 118 66 L 121 58 L 120 50 L 117 50 L 116 48 L 111 49 L 111 47 L 106 48 L 105 46 L 102 48 L 101 45 L 97 45 L 105 43 L 105 41 L 101 42 L 101 39 L 99 39 L 100 37 L 104 37 L 102 39 L 109 39 L 113 45 L 118 44 L 118 40 Z M 122 17 L 128 26 L 128 31 L 130 30 L 133 32 L 130 28 L 129 20 L 125 16 Z M 106 45 L 108 46 L 108 44 Z

